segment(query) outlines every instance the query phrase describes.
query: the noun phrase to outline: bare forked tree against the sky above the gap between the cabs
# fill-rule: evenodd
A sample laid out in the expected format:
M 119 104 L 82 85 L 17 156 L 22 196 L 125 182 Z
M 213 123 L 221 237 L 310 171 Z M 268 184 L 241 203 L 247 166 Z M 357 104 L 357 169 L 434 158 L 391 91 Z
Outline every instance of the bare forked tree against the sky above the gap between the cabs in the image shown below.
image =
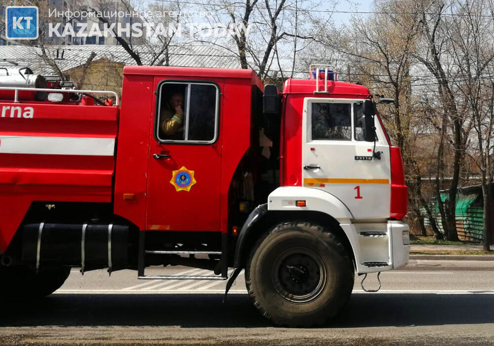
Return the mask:
M 212 24 L 229 21 L 229 25 L 239 30 L 227 40 L 210 39 L 206 42 L 235 53 L 241 67 L 253 69 L 261 79 L 277 76 L 284 79 L 287 72 L 288 76 L 293 76 L 297 52 L 304 47 L 301 42 L 315 40 L 313 35 L 309 34 L 313 28 L 309 19 L 311 12 L 301 9 L 302 5 L 312 8 L 316 6 L 316 2 L 313 0 L 210 1 L 206 8 L 214 13 L 214 17 L 211 18 Z

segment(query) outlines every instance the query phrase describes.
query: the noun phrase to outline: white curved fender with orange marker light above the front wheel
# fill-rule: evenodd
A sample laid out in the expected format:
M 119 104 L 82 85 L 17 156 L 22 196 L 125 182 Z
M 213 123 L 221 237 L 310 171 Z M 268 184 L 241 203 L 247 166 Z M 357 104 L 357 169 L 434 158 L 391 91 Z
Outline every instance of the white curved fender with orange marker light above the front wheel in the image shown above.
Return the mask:
M 306 207 L 297 207 L 296 201 L 305 201 Z M 350 223 L 352 213 L 339 199 L 321 189 L 301 186 L 281 186 L 268 196 L 268 210 L 314 211 L 334 217 L 339 223 Z

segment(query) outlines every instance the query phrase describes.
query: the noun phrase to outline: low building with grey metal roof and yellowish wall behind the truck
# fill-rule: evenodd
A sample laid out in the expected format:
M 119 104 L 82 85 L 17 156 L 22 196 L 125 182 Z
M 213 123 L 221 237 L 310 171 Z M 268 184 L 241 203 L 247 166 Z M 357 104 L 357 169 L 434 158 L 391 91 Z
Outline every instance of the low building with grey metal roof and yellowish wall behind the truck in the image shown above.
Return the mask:
M 80 89 L 111 90 L 120 94 L 124 66 L 135 65 L 135 60 L 120 45 L 55 45 L 47 46 L 45 51 L 47 57 L 43 59 L 40 47 L 1 46 L 0 66 L 28 66 L 35 74 L 43 76 L 59 76 L 59 70 L 65 80 L 74 82 Z M 134 52 L 139 54 L 144 65 L 152 64 L 154 52 L 151 46 L 134 46 Z M 168 65 L 241 67 L 235 54 L 210 45 L 169 46 Z

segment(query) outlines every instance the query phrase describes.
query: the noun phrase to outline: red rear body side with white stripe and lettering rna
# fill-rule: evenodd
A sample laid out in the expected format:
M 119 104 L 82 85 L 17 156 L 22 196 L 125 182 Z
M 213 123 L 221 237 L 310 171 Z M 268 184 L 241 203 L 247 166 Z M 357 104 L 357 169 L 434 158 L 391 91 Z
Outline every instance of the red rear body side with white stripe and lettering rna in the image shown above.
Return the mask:
M 0 251 L 34 201 L 111 202 L 118 112 L 0 103 Z

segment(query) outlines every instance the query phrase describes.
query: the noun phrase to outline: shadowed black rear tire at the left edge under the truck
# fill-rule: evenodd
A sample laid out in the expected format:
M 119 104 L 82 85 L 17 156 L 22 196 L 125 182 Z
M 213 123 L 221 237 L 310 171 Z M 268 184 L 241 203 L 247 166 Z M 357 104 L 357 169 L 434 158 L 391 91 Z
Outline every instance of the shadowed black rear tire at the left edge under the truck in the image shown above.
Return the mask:
M 70 267 L 40 270 L 26 267 L 1 268 L 0 294 L 7 300 L 33 300 L 46 297 L 63 285 Z

